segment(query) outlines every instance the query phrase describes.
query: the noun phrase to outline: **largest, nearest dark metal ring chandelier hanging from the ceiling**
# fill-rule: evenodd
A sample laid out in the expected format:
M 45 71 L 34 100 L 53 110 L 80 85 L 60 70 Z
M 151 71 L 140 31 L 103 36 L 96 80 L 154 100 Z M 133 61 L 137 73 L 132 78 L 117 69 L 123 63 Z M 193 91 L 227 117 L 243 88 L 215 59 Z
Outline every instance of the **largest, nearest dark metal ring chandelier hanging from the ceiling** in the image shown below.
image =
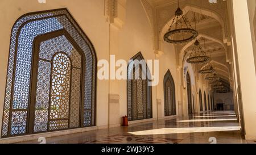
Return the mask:
M 174 20 L 168 31 L 164 34 L 164 41 L 172 44 L 183 44 L 192 41 L 198 36 L 198 32 L 192 28 L 187 17 L 183 15 L 183 11 L 179 7 L 175 11 Z

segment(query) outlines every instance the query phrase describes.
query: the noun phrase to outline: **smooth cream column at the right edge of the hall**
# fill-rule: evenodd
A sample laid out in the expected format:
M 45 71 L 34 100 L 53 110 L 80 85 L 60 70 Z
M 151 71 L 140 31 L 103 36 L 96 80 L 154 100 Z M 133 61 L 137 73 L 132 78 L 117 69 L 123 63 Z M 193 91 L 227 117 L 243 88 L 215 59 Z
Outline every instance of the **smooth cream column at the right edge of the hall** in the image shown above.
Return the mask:
M 234 32 L 238 77 L 239 100 L 242 102 L 243 122 L 247 140 L 256 139 L 256 76 L 253 42 L 247 1 L 233 0 Z

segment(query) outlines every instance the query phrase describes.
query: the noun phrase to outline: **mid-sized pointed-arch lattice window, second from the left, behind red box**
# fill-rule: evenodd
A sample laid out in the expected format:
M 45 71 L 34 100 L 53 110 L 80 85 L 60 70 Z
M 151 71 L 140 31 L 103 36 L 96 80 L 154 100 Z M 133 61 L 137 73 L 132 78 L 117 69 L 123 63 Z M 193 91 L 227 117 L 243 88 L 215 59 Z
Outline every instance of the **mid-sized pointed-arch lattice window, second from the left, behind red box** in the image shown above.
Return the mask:
M 139 52 L 131 60 L 144 60 Z M 143 70 L 142 66 L 146 66 Z M 138 77 L 136 76 L 138 75 Z M 128 120 L 152 118 L 150 73 L 146 62 L 136 64 L 130 62 L 127 70 L 127 116 Z M 143 78 L 145 77 L 145 78 Z

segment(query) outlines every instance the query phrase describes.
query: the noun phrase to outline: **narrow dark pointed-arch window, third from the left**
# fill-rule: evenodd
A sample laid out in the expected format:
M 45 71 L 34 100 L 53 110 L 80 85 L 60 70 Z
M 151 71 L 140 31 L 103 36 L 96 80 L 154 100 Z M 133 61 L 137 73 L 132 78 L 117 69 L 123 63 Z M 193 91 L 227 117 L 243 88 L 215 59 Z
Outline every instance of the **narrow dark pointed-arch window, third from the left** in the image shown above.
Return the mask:
M 164 76 L 164 115 L 176 115 L 175 84 L 170 70 Z

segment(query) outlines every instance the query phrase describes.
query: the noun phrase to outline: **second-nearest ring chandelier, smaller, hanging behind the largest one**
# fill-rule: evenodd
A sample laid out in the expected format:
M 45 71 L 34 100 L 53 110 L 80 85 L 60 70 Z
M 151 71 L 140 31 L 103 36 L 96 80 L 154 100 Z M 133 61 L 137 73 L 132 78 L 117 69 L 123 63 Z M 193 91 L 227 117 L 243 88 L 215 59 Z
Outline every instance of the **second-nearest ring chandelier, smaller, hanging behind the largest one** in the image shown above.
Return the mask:
M 199 41 L 196 40 L 187 62 L 189 64 L 205 64 L 209 61 L 210 57 L 207 56 L 203 48 L 200 46 Z

